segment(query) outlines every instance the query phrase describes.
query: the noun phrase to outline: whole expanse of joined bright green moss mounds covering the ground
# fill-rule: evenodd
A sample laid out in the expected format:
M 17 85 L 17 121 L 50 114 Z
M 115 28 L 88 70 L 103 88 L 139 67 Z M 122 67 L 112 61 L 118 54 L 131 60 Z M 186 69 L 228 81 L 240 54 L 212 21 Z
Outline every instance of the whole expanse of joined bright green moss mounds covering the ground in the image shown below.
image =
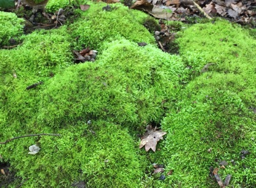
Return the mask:
M 104 3 L 90 6 L 74 23 L 0 50 L 1 141 L 61 134 L 0 146 L 23 187 L 217 187 L 209 167 L 221 160 L 228 165 L 220 175 L 232 175 L 231 186 L 255 185 L 256 40 L 249 32 L 222 20 L 195 24 L 179 33 L 180 55 L 169 55 L 143 27 L 146 14 L 121 4 L 110 12 Z M 95 62 L 73 63 L 72 50 L 82 46 L 99 51 Z M 167 132 L 156 153 L 138 149 L 137 134 L 148 123 Z M 41 150 L 33 156 L 34 144 Z M 250 151 L 245 159 L 242 149 Z M 151 175 L 151 163 L 166 166 L 164 181 Z

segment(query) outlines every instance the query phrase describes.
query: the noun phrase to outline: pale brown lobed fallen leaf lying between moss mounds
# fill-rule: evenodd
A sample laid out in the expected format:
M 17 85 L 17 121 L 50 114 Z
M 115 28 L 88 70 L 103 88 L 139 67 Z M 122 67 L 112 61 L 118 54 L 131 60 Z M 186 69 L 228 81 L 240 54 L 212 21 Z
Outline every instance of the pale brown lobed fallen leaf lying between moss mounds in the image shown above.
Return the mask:
M 143 146 L 145 146 L 146 151 L 150 150 L 151 148 L 155 152 L 158 141 L 160 139 L 163 139 L 162 136 L 166 135 L 166 132 L 163 132 L 162 130 L 157 130 L 156 127 L 152 129 L 150 125 L 146 127 L 146 130 L 147 132 L 141 138 L 140 141 L 140 149 L 143 148 Z

